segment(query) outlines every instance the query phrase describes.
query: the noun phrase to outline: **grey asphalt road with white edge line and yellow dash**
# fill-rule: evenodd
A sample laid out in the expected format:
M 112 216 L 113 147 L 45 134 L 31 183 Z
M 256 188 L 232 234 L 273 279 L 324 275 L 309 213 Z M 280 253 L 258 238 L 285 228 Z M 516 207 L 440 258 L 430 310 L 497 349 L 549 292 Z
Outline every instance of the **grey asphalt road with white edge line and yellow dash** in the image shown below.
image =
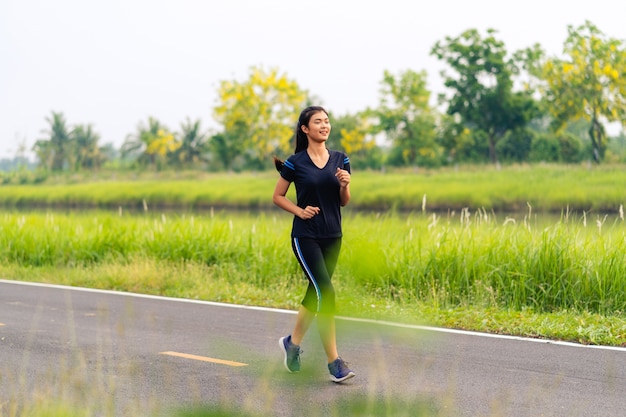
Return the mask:
M 626 415 L 626 349 L 338 318 L 357 374 L 338 385 L 315 328 L 303 371 L 283 368 L 278 338 L 294 320 L 0 280 L 0 416 L 44 401 L 103 416 L 218 405 L 246 416 Z

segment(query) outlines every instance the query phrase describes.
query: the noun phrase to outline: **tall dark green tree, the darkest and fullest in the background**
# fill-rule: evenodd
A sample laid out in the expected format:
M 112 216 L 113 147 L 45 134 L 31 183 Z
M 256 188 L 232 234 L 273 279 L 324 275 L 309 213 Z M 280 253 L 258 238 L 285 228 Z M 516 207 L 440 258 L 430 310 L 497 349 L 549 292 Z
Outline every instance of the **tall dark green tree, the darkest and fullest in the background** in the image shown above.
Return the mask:
M 511 130 L 525 126 L 536 114 L 531 91 L 513 91 L 513 75 L 518 73 L 514 59 L 507 58 L 504 43 L 489 29 L 482 37 L 476 29 L 456 38 L 437 42 L 431 54 L 445 61 L 455 72 L 442 76 L 452 89 L 447 112 L 478 136 L 484 134 L 489 158 L 497 163 L 496 145 Z

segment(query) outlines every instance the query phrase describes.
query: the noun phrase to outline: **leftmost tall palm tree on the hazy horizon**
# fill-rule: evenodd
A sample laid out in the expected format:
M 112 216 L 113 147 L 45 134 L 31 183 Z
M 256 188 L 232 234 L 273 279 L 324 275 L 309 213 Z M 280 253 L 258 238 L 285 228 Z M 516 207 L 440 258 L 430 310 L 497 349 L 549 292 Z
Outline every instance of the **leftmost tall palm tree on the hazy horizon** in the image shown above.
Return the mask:
M 70 130 L 63 113 L 52 112 L 46 121 L 50 125 L 50 129 L 43 132 L 47 137 L 35 142 L 33 151 L 41 165 L 52 171 L 61 171 L 69 163 L 72 146 Z

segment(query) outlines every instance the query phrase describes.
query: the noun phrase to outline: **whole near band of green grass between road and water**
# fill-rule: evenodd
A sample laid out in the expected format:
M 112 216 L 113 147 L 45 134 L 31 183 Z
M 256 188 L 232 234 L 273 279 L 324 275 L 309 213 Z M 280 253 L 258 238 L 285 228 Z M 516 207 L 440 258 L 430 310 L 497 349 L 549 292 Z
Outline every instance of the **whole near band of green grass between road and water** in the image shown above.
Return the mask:
M 0 274 L 296 308 L 305 282 L 290 226 L 278 212 L 4 213 Z M 621 217 L 348 212 L 344 228 L 334 278 L 342 314 L 626 342 Z M 572 323 L 540 330 L 546 315 Z

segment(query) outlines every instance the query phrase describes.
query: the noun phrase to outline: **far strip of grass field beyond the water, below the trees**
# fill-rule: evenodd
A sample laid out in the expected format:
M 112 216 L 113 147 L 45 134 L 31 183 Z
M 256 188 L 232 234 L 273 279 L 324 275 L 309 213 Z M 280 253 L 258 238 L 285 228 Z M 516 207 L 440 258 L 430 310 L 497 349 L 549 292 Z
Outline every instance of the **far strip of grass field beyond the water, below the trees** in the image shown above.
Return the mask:
M 96 207 L 198 210 L 272 208 L 276 172 L 99 173 L 51 177 L 37 185 L 0 186 L 0 207 Z M 573 212 L 617 214 L 626 196 L 622 166 L 520 165 L 437 171 L 359 172 L 350 206 L 361 210 L 447 212 L 469 208 L 496 213 Z

